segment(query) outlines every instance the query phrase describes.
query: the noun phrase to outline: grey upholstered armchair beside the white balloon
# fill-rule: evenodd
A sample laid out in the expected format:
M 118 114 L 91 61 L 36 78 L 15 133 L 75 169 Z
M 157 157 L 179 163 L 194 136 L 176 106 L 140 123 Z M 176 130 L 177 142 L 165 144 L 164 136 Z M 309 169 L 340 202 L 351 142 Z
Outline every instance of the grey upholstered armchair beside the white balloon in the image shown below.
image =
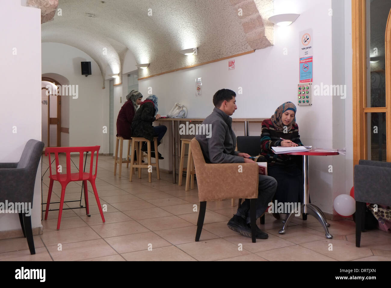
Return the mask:
M 354 166 L 354 199 L 356 201 L 356 247 L 364 232 L 366 203 L 391 206 L 391 163 L 360 160 Z

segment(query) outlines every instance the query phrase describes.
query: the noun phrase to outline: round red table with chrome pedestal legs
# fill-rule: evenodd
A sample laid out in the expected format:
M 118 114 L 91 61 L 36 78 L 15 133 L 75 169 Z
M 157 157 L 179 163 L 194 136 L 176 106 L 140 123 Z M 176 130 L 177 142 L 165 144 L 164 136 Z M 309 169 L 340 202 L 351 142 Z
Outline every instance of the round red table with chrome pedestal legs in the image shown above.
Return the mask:
M 332 156 L 332 155 L 338 155 L 339 152 L 316 152 L 315 150 L 309 150 L 309 151 L 298 151 L 298 152 L 291 152 L 291 153 L 285 153 L 285 154 L 290 154 L 290 155 L 302 155 L 303 156 L 303 173 L 304 173 L 304 178 L 303 178 L 303 202 L 301 204 L 301 213 L 308 213 L 312 216 L 314 216 L 323 226 L 326 232 L 326 238 L 331 239 L 333 235 L 331 235 L 328 232 L 328 228 L 330 226 L 329 223 L 326 221 L 325 214 L 323 214 L 322 210 L 320 210 L 319 207 L 308 203 L 309 202 L 309 192 L 308 192 L 308 183 L 309 183 L 309 178 L 308 178 L 308 156 Z M 291 219 L 294 217 L 295 212 L 292 211 L 290 214 L 287 214 L 287 217 L 283 221 L 284 226 L 278 233 L 280 234 L 285 234 L 286 228 L 288 227 L 288 223 L 291 221 Z

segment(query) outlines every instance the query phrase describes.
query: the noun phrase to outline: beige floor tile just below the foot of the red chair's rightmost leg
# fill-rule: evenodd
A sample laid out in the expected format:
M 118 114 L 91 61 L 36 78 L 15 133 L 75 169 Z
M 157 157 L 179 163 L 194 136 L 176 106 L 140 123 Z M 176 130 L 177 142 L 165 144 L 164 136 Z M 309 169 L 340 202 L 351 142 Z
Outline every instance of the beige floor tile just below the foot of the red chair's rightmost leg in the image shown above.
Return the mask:
M 100 225 L 91 226 L 103 238 L 114 237 L 127 234 L 136 234 L 149 232 L 149 230 L 136 221 L 126 221 L 119 223 L 104 223 Z

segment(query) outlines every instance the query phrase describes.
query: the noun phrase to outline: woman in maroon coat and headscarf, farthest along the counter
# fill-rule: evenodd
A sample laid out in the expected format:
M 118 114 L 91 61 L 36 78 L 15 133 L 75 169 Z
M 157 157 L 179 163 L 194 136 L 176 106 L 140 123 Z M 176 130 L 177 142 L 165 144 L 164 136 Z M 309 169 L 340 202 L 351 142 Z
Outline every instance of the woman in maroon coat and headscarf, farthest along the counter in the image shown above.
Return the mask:
M 130 139 L 132 136 L 132 121 L 135 116 L 138 105 L 140 105 L 143 95 L 132 90 L 126 95 L 126 102 L 122 105 L 117 117 L 117 137 Z

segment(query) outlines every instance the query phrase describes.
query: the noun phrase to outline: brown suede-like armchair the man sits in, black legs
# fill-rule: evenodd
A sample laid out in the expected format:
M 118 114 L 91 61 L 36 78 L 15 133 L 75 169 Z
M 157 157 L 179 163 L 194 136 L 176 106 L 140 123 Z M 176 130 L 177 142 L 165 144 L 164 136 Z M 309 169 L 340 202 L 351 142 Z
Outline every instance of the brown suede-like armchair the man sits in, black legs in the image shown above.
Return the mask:
M 204 224 L 206 201 L 231 198 L 250 199 L 250 219 L 252 241 L 255 243 L 255 201 L 258 198 L 258 165 L 256 163 L 208 164 L 205 162 L 198 141 L 190 142 L 195 174 L 197 175 L 198 198 L 200 201 L 197 233 L 199 241 Z M 239 165 L 242 172 L 239 172 Z

